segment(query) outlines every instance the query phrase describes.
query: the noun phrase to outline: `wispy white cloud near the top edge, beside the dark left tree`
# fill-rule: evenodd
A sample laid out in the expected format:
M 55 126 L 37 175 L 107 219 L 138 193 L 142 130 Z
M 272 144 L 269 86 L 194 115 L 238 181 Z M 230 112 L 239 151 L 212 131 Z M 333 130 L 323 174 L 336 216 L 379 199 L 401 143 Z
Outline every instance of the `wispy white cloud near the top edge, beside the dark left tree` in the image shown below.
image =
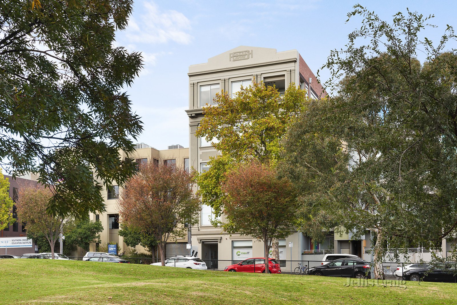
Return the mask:
M 152 1 L 144 2 L 138 19 L 131 18 L 125 32 L 129 42 L 188 44 L 192 36 L 188 33 L 191 22 L 184 14 L 167 10 L 161 11 Z

